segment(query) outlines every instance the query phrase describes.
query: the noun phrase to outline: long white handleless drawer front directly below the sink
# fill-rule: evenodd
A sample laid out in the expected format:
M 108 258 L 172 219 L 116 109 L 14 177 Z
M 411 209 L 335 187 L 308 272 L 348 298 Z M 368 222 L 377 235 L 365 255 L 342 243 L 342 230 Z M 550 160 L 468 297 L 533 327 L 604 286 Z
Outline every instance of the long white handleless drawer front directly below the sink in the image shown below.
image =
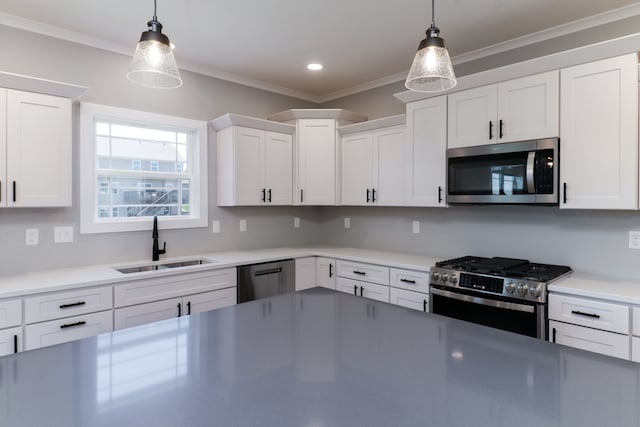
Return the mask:
M 233 286 L 236 269 L 227 268 L 123 283 L 115 286 L 114 299 L 116 307 L 126 307 Z

